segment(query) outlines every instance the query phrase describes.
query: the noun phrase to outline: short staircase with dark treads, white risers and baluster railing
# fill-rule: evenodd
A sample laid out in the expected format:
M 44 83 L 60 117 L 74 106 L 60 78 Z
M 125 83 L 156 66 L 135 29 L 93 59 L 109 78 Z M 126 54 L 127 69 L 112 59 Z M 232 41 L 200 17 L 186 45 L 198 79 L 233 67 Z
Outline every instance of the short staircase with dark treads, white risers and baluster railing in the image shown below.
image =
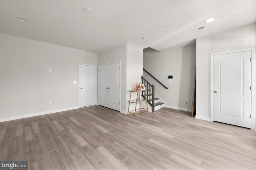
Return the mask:
M 141 76 L 142 84 L 144 84 L 145 89 L 148 90 L 146 92 L 142 92 L 142 98 L 146 98 L 148 100 L 148 104 L 152 107 L 152 112 L 162 107 L 165 107 L 165 103 L 161 102 L 161 99 L 155 94 L 155 85 L 150 84 L 143 76 Z M 146 93 L 146 95 L 145 95 Z

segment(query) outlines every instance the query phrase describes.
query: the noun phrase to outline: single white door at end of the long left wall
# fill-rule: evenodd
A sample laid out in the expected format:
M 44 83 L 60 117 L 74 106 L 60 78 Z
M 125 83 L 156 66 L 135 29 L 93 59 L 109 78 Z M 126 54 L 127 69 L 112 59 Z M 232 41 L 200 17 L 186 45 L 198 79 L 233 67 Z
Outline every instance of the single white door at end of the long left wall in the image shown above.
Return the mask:
M 97 66 L 80 64 L 80 107 L 97 103 Z

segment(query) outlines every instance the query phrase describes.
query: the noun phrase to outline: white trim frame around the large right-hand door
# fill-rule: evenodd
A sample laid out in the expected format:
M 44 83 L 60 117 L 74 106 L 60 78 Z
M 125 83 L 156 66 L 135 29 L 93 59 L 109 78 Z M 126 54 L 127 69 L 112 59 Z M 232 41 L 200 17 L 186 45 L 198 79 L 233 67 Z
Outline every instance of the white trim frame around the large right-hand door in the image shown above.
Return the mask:
M 210 121 L 213 121 L 213 61 L 214 55 L 224 55 L 228 53 L 251 52 L 251 130 L 256 130 L 255 126 L 255 48 L 240 49 L 210 55 Z

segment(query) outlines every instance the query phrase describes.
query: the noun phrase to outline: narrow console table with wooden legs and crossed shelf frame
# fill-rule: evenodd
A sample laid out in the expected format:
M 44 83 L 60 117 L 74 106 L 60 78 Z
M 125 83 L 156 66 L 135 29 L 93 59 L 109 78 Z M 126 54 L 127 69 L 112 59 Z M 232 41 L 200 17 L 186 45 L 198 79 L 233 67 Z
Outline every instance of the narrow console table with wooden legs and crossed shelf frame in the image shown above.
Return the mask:
M 148 101 L 147 101 L 147 93 L 146 91 L 148 90 L 128 90 L 128 92 L 130 92 L 130 100 L 129 100 L 129 106 L 128 106 L 128 113 L 132 113 L 134 114 L 134 117 L 136 114 L 141 113 L 143 111 L 148 111 Z M 131 100 L 132 97 L 132 92 L 137 92 L 137 97 L 136 100 Z M 144 98 L 140 98 L 140 92 L 145 92 L 145 99 Z M 147 108 L 143 108 L 141 106 L 141 102 L 145 101 L 146 102 L 146 106 Z M 130 103 L 135 103 L 135 109 L 130 111 Z M 140 108 L 137 108 L 137 104 L 140 103 Z

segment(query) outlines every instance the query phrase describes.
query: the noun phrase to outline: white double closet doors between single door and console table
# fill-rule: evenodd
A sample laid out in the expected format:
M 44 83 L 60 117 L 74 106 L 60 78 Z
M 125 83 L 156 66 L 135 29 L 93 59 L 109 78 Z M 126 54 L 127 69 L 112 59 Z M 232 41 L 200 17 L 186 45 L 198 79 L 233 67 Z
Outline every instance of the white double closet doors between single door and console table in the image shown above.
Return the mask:
M 120 63 L 99 66 L 99 104 L 120 111 Z

